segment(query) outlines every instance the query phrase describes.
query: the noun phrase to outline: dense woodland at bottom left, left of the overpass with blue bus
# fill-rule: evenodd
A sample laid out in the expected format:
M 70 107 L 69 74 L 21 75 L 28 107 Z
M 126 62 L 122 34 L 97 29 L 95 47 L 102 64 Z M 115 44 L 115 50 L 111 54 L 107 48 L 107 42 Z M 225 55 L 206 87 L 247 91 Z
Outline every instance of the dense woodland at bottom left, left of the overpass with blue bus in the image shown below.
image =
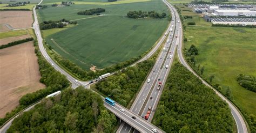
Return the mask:
M 7 132 L 113 132 L 116 124 L 100 96 L 80 86 L 43 99 L 18 116 Z

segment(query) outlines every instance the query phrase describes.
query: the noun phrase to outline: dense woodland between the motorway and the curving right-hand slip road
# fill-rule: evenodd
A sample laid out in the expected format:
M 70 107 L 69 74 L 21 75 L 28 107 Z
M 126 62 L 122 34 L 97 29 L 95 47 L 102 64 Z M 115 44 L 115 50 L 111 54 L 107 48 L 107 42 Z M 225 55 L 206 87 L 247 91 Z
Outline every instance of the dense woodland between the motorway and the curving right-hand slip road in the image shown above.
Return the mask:
M 153 124 L 166 132 L 232 132 L 226 102 L 180 63 L 166 81 Z

